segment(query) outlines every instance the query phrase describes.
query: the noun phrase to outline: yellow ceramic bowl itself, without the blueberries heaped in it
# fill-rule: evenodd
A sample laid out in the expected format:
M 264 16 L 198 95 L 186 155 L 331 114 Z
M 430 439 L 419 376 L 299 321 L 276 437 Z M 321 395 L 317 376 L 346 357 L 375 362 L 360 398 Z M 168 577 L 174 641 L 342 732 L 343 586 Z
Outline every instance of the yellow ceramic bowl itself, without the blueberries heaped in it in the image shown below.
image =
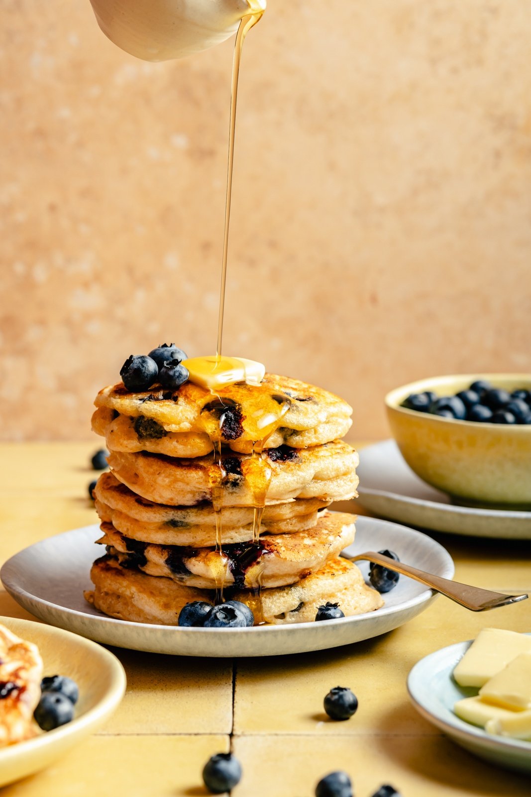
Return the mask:
M 409 467 L 452 496 L 487 504 L 531 505 L 531 426 L 441 418 L 400 404 L 411 393 L 455 395 L 476 379 L 507 391 L 531 389 L 529 374 L 436 376 L 385 397 L 392 435 Z

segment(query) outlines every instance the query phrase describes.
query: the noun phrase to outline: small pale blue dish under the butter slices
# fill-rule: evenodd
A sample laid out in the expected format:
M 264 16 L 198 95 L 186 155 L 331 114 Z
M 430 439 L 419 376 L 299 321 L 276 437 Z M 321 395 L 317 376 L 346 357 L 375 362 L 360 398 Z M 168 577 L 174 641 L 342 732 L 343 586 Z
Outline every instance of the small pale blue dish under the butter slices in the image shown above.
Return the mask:
M 457 744 L 491 764 L 531 772 L 531 742 L 491 736 L 456 717 L 453 708 L 462 697 L 477 694 L 477 689 L 462 689 L 452 673 L 472 641 L 458 642 L 420 659 L 408 676 L 408 691 L 413 705 L 428 722 L 436 725 Z

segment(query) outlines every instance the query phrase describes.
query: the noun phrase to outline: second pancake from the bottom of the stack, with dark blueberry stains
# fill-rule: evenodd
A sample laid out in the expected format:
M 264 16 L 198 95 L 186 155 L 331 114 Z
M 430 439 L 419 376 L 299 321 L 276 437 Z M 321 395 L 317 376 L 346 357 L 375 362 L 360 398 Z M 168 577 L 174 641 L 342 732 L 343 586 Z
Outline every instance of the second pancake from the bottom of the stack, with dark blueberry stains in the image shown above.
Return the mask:
M 283 587 L 321 569 L 353 543 L 353 515 L 321 512 L 314 528 L 291 534 L 264 534 L 257 543 L 214 548 L 180 548 L 139 543 L 103 523 L 99 543 L 125 567 L 174 579 L 201 589 Z M 109 550 L 110 549 L 110 550 Z

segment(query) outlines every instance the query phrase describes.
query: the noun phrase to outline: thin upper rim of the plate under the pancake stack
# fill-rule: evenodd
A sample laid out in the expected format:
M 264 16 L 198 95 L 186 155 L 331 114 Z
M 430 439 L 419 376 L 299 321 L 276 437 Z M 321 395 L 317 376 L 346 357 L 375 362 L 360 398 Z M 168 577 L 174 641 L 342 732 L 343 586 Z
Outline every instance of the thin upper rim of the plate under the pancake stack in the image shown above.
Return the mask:
M 453 576 L 455 575 L 455 563 L 454 563 L 453 559 L 451 558 L 450 553 L 447 552 L 447 549 L 444 548 L 443 545 L 441 545 L 439 542 L 437 542 L 437 540 L 433 540 L 428 534 L 424 534 L 424 532 L 420 532 L 416 528 L 411 528 L 411 527 L 406 526 L 404 524 L 395 523 L 392 520 L 385 520 L 385 518 L 373 518 L 373 517 L 366 517 L 366 516 L 356 516 L 355 514 L 353 514 L 353 518 L 355 519 L 355 522 L 359 523 L 361 521 L 362 524 L 367 523 L 367 524 L 371 525 L 371 524 L 374 523 L 374 524 L 388 524 L 388 525 L 391 525 L 391 526 L 395 526 L 396 528 L 405 529 L 408 532 L 408 534 L 412 534 L 413 536 L 420 537 L 423 540 L 428 540 L 429 541 L 428 544 L 431 544 L 435 549 L 439 549 L 439 553 L 441 554 L 441 556 L 443 556 L 443 559 L 446 559 L 445 565 L 443 567 L 443 571 L 440 574 L 437 574 L 437 575 L 441 575 L 443 578 L 447 578 L 447 579 L 452 579 Z M 61 606 L 61 604 L 59 604 L 59 603 L 52 603 L 49 600 L 38 598 L 36 595 L 32 595 L 31 593 L 29 593 L 25 589 L 17 586 L 12 581 L 10 581 L 10 569 L 11 569 L 11 567 L 14 566 L 14 560 L 17 559 L 19 556 L 21 556 L 24 553 L 28 552 L 32 548 L 37 548 L 37 546 L 39 546 L 39 545 L 41 545 L 43 543 L 49 542 L 49 540 L 54 540 L 54 539 L 59 538 L 61 536 L 70 535 L 70 534 L 76 533 L 76 532 L 77 533 L 79 533 L 79 532 L 87 533 L 89 530 L 93 531 L 95 534 L 97 534 L 97 533 L 99 533 L 100 528 L 99 528 L 98 524 L 89 524 L 88 526 L 80 526 L 79 528 L 68 529 L 68 531 L 66 531 L 66 532 L 60 532 L 59 534 L 55 534 L 53 536 L 45 537 L 44 540 L 38 540 L 36 543 L 33 543 L 31 545 L 26 546 L 25 548 L 22 548 L 21 551 L 18 551 L 13 556 L 10 556 L 10 559 L 7 559 L 6 562 L 3 563 L 2 568 L 0 569 L 0 581 L 2 581 L 3 587 L 6 589 L 6 591 L 8 591 L 10 593 L 10 595 L 15 600 L 17 600 L 17 595 L 25 595 L 25 597 L 27 599 L 29 599 L 30 601 L 32 601 L 32 602 L 37 601 L 38 603 L 41 603 L 41 605 L 44 605 L 46 607 L 50 607 L 53 610 L 61 611 L 61 612 L 64 612 L 66 614 L 75 615 L 76 617 L 80 617 L 80 618 L 88 617 L 88 618 L 91 618 L 92 620 L 103 622 L 107 626 L 114 626 L 116 623 L 118 623 L 120 626 L 123 626 L 124 624 L 127 624 L 127 626 L 133 626 L 135 628 L 140 628 L 140 629 L 146 629 L 146 627 L 148 627 L 148 628 L 151 628 L 151 629 L 154 629 L 154 630 L 158 630 L 158 631 L 162 630 L 164 633 L 168 633 L 168 632 L 172 633 L 172 632 L 178 630 L 180 632 L 185 632 L 187 634 L 210 634 L 210 635 L 216 635 L 216 636 L 218 634 L 227 634 L 228 631 L 232 632 L 231 635 L 232 634 L 240 634 L 241 635 L 241 634 L 244 634 L 244 633 L 247 633 L 247 634 L 253 633 L 253 634 L 257 635 L 257 634 L 273 634 L 274 632 L 276 632 L 276 633 L 279 633 L 279 632 L 280 633 L 286 633 L 287 630 L 291 630 L 291 629 L 294 629 L 294 630 L 295 629 L 296 630 L 305 629 L 305 630 L 309 631 L 311 628 L 314 627 L 314 623 L 310 623 L 310 622 L 293 622 L 293 623 L 289 623 L 289 624 L 286 624 L 286 625 L 253 626 L 252 628 L 230 628 L 230 629 L 226 629 L 226 628 L 225 629 L 224 628 L 193 628 L 193 627 L 183 627 L 183 626 L 166 626 L 166 625 L 160 625 L 160 624 L 156 624 L 156 623 L 135 622 L 135 621 L 131 621 L 131 620 L 119 620 L 118 618 L 109 617 L 109 616 L 107 616 L 106 614 L 103 614 L 103 613 L 100 613 L 100 614 L 89 614 L 88 612 L 79 611 L 78 609 L 72 609 L 71 607 L 64 607 L 64 606 Z M 344 550 L 346 550 L 347 548 L 349 548 L 349 546 L 346 546 L 346 548 Z M 388 614 L 395 614 L 398 611 L 408 611 L 408 609 L 411 609 L 412 607 L 416 607 L 416 606 L 421 605 L 423 603 L 427 603 L 435 595 L 437 595 L 437 593 L 435 591 L 433 591 L 431 589 L 426 589 L 426 590 L 420 592 L 419 595 L 416 595 L 416 597 L 408 599 L 407 601 L 404 601 L 404 603 L 400 603 L 398 606 L 394 606 L 394 607 L 385 607 L 384 606 L 381 609 L 378 609 L 377 610 L 377 614 L 378 614 L 379 617 L 381 617 L 381 616 L 386 616 Z M 332 620 L 328 620 L 326 622 L 326 626 L 330 627 L 330 626 L 346 625 L 347 623 L 359 622 L 362 619 L 370 618 L 370 617 L 373 617 L 374 615 L 375 615 L 374 611 L 369 611 L 369 612 L 364 612 L 362 614 L 354 614 L 353 616 L 350 616 L 350 617 L 334 618 Z

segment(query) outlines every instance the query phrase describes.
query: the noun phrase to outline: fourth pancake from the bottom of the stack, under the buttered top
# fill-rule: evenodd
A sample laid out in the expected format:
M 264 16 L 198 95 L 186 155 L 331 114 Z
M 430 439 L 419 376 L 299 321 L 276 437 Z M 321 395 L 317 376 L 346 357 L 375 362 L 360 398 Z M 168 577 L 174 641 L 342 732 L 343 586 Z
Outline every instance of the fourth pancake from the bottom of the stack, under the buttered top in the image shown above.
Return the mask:
M 342 441 L 301 450 L 268 449 L 264 461 L 271 468 L 266 505 L 291 498 L 346 501 L 357 495 L 355 468 L 359 457 Z M 217 501 L 224 507 L 260 505 L 253 493 L 256 460 L 245 454 L 222 457 L 223 478 L 212 456 L 172 459 L 145 452 L 111 451 L 108 462 L 119 481 L 157 504 L 191 506 L 212 501 L 217 493 Z

